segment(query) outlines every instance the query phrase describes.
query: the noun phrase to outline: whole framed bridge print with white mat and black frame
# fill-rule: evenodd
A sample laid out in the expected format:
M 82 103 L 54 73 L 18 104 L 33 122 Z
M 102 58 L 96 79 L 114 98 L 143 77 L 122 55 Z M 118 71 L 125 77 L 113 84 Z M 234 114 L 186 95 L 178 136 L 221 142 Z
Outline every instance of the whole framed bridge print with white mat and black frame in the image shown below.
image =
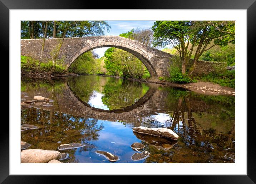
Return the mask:
M 255 183 L 247 57 L 255 50 L 256 2 L 140 1 L 125 9 L 96 4 L 1 0 L 10 120 L 1 139 L 0 181 L 44 183 L 46 175 L 190 175 L 194 183 Z M 193 28 L 187 28 L 185 40 L 177 34 L 164 40 L 170 33 L 163 27 L 180 22 Z M 208 40 L 196 39 L 207 34 L 198 28 L 203 24 L 213 30 L 207 30 Z M 154 40 L 142 45 L 135 37 L 146 31 Z M 210 50 L 215 45 L 226 47 Z M 198 54 L 200 47 L 204 52 Z M 184 63 L 191 64 L 183 70 L 183 60 L 174 64 L 184 58 L 184 49 L 191 50 L 184 55 L 189 56 Z M 207 91 L 215 76 L 207 82 L 203 77 L 221 67 L 226 71 L 223 58 L 228 66 L 236 62 L 236 77 L 230 70 L 220 80 L 232 76 L 229 86 Z M 19 60 L 21 65 L 15 63 Z M 177 80 L 169 65 L 180 70 L 182 84 L 168 86 Z M 29 75 L 41 77 L 30 80 Z M 189 87 L 185 80 L 203 86 Z M 21 152 L 20 141 L 26 146 Z M 28 150 L 58 156 L 38 161 Z M 42 164 L 52 160 L 66 164 Z

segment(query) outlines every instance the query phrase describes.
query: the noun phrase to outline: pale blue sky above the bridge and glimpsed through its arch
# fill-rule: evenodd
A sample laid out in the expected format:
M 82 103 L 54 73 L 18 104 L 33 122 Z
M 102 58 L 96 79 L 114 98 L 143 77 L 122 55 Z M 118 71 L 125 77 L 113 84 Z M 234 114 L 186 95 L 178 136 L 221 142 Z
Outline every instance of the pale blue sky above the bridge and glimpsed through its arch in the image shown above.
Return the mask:
M 107 20 L 107 22 L 112 28 L 109 30 L 109 32 L 105 29 L 104 34 L 111 36 L 118 36 L 124 32 L 136 29 L 137 27 L 151 28 L 154 24 L 153 20 Z M 99 55 L 99 57 L 102 57 L 107 49 L 107 47 L 96 48 L 94 51 Z

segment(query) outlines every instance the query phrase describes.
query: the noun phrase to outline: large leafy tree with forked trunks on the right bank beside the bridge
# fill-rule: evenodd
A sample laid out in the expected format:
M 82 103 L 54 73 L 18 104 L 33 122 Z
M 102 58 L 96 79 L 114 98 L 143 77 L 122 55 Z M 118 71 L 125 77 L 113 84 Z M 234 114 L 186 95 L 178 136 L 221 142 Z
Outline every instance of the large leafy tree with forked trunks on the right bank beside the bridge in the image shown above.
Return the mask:
M 189 75 L 192 75 L 203 52 L 215 45 L 235 42 L 235 21 L 156 21 L 152 30 L 153 37 L 156 39 L 153 42 L 154 46 L 171 44 L 178 50 L 183 74 L 186 73 L 186 66 L 197 46 Z M 214 44 L 209 46 L 212 41 Z

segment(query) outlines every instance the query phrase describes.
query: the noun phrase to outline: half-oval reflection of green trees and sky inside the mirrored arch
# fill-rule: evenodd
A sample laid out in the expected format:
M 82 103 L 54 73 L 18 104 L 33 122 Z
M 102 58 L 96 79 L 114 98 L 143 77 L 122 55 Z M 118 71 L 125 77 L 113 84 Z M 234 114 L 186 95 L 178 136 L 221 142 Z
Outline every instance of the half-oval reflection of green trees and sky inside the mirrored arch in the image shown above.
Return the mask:
M 132 109 L 150 88 L 146 83 L 102 76 L 70 77 L 68 86 L 85 106 L 102 112 Z

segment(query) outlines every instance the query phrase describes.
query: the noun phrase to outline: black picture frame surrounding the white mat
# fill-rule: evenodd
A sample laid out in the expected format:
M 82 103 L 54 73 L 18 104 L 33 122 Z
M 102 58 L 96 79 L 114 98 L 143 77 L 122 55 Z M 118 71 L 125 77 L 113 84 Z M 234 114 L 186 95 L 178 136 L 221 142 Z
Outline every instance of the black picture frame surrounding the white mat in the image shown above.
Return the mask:
M 77 0 L 0 0 L 0 46 L 1 53 L 9 53 L 9 10 L 10 9 L 113 9 L 114 4 L 120 2 L 100 2 L 100 1 L 77 1 Z M 247 10 L 247 57 L 252 57 L 254 54 L 255 37 L 256 37 L 256 1 L 255 0 L 164 0 L 164 1 L 149 1 L 140 0 L 138 2 L 125 3 L 116 9 L 246 9 Z M 9 55 L 6 55 L 6 61 L 9 61 Z M 255 60 L 255 59 L 253 59 Z M 11 68 L 9 68 L 11 70 Z M 251 69 L 252 70 L 252 69 Z M 248 71 L 248 70 L 247 70 Z M 249 73 L 249 71 L 248 71 Z M 9 84 L 10 85 L 10 84 Z M 248 89 L 247 89 L 248 90 Z M 251 92 L 252 93 L 252 92 Z M 250 91 L 247 91 L 247 96 Z M 10 98 L 10 97 L 9 97 Z M 248 106 L 248 104 L 247 104 Z M 249 109 L 249 108 L 247 108 Z M 248 114 L 248 112 L 247 112 Z M 246 119 L 245 119 L 246 121 Z M 247 121 L 249 122 L 249 121 Z M 242 123 L 247 123 L 242 122 Z M 2 183 L 49 183 L 52 180 L 50 176 L 14 176 L 9 175 L 9 125 L 2 124 L 0 136 L 1 156 L 0 156 L 0 182 Z M 187 179 L 190 183 L 255 183 L 256 182 L 256 167 L 255 167 L 255 142 L 254 139 L 254 123 L 247 123 L 247 175 L 208 175 L 208 176 L 171 176 L 172 180 L 177 177 Z M 4 148 L 4 149 L 3 149 Z M 158 176 L 159 177 L 159 176 Z M 93 178 L 97 178 L 94 176 Z M 104 177 L 108 180 L 109 177 Z M 133 182 L 134 179 L 125 177 L 126 182 Z M 151 177 L 148 177 L 149 179 Z M 169 177 L 170 178 L 170 177 Z M 65 176 L 58 177 L 58 183 L 64 182 L 74 183 L 74 177 L 67 178 Z M 81 179 L 81 177 L 75 177 Z M 178 178 L 177 178 L 178 179 Z M 182 179 L 182 182 L 184 180 Z

